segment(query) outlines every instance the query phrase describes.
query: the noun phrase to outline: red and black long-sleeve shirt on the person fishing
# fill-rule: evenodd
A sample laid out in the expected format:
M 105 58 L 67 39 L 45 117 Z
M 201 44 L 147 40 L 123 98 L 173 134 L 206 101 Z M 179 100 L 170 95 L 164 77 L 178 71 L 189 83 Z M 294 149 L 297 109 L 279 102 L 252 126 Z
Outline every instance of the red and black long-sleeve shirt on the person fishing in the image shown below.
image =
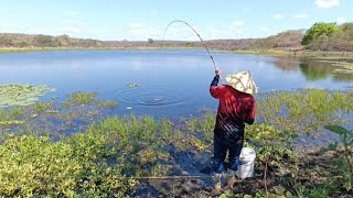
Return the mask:
M 244 122 L 253 124 L 255 120 L 255 98 L 228 85 L 217 85 L 218 76 L 215 76 L 210 86 L 212 97 L 220 100 L 215 132 L 229 136 L 238 136 L 238 132 L 244 134 Z

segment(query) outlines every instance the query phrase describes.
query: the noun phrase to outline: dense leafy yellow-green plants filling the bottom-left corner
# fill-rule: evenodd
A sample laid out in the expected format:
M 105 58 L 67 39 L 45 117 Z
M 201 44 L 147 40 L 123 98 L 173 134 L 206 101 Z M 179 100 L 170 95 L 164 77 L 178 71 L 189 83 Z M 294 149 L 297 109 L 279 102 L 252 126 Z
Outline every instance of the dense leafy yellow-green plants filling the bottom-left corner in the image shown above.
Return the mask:
M 11 135 L 0 145 L 0 196 L 122 197 L 136 183 L 124 179 L 103 138 L 78 133 L 52 143 L 49 138 Z M 19 169 L 21 169 L 19 172 Z M 34 173 L 34 174 L 33 174 Z

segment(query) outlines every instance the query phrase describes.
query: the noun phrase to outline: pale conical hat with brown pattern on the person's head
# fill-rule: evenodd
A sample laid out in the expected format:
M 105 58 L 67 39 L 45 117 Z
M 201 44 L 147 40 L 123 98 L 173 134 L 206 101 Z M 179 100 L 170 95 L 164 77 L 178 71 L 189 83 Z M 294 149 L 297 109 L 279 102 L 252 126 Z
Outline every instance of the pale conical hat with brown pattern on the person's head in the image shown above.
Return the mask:
M 225 77 L 229 86 L 234 89 L 246 92 L 249 95 L 254 95 L 257 92 L 256 84 L 250 75 L 250 72 L 245 70 L 234 75 L 227 75 Z

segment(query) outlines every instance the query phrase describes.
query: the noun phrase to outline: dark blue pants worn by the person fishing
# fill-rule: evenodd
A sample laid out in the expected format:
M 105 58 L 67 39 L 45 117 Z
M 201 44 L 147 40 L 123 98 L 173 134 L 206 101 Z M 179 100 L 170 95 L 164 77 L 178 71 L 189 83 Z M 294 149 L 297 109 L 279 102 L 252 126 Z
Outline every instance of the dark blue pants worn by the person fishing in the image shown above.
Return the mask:
M 214 172 L 220 174 L 226 170 L 224 160 L 228 153 L 228 168 L 238 169 L 239 155 L 244 144 L 244 133 L 238 138 L 229 139 L 215 132 L 214 134 Z

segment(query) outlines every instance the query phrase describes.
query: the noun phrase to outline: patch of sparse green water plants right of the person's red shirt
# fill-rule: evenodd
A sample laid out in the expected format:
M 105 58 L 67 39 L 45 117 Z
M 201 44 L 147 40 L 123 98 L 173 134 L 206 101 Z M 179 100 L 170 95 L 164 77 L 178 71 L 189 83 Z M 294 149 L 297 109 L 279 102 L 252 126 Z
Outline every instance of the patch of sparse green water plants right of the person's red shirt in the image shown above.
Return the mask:
M 311 133 L 324 124 L 345 123 L 353 111 L 353 92 L 307 89 L 272 91 L 257 100 L 257 119 L 285 131 Z

